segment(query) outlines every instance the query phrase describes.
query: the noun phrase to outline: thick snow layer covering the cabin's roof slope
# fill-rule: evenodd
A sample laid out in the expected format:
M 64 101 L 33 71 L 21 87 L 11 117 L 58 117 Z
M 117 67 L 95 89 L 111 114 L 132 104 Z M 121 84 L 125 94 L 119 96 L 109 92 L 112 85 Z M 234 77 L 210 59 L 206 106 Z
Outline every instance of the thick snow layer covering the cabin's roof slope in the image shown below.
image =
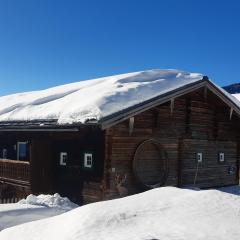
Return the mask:
M 56 119 L 59 124 L 100 120 L 202 79 L 180 70 L 148 70 L 0 97 L 0 121 Z

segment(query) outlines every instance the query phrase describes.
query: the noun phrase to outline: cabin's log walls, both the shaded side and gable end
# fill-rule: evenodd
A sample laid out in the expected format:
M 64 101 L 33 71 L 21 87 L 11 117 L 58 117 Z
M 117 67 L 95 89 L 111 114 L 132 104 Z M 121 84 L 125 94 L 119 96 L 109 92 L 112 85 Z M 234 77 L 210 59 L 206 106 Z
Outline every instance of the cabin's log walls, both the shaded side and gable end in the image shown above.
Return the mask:
M 105 131 L 82 127 L 72 133 L 0 133 L 1 147 L 12 147 L 19 140 L 30 143 L 28 184 L 18 186 L 23 188 L 21 191 L 12 190 L 6 185 L 15 183 L 8 179 L 7 183 L 1 183 L 0 193 L 11 193 L 9 197 L 12 197 L 13 192 L 26 195 L 63 191 L 72 200 L 84 203 L 111 199 L 146 190 L 144 182 L 154 185 L 150 164 L 159 169 L 164 166 L 166 174 L 161 178 L 164 186 L 236 184 L 239 179 L 239 117 L 233 113 L 230 119 L 229 107 L 211 92 L 207 95 L 204 92 L 200 89 L 176 98 L 172 105 L 167 102 L 134 116 L 133 128 L 130 121 L 125 120 Z M 157 143 L 152 145 L 149 139 Z M 146 144 L 142 146 L 143 142 Z M 137 149 L 140 150 L 136 153 Z M 62 151 L 69 152 L 67 167 L 59 166 Z M 95 152 L 94 171 L 83 170 L 84 151 Z M 203 154 L 201 164 L 196 161 L 198 152 Z M 220 152 L 225 154 L 224 162 L 218 160 Z M 14 151 L 11 154 L 16 155 Z M 167 166 L 157 162 L 158 154 Z M 139 165 L 136 167 L 136 164 Z M 159 169 L 154 169 L 153 173 L 158 174 Z M 134 171 L 143 175 L 139 178 Z

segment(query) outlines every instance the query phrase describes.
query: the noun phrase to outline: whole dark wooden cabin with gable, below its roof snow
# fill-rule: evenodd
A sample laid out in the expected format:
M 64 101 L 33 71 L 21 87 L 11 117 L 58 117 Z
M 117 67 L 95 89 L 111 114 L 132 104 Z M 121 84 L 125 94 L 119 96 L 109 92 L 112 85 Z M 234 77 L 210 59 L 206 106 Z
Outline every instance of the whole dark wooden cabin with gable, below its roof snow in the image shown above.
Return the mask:
M 96 122 L 2 121 L 0 197 L 58 192 L 88 203 L 238 184 L 239 118 L 238 101 L 203 77 Z

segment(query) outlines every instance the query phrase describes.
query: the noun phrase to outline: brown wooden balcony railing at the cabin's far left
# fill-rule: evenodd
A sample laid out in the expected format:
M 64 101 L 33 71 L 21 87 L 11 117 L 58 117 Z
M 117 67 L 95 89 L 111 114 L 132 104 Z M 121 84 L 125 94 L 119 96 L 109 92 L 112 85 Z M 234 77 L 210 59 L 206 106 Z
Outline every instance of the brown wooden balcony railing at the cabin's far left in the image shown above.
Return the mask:
M 30 163 L 17 160 L 0 159 L 0 179 L 29 182 Z

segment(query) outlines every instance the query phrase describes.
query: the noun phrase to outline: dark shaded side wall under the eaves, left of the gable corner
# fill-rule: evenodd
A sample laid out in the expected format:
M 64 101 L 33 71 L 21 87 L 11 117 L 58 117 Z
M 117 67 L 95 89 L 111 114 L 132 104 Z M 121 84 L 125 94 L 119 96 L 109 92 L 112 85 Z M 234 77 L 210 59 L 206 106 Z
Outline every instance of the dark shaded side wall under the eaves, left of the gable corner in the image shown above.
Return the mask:
M 18 164 L 16 156 L 9 155 L 9 169 L 6 169 L 7 163 L 0 159 L 0 180 L 6 176 L 4 184 L 21 183 L 20 187 L 34 194 L 58 192 L 78 203 L 93 195 L 94 201 L 100 197 L 104 168 L 104 133 L 101 130 L 83 127 L 77 132 L 4 132 L 0 135 L 2 145 L 11 148 L 19 140 L 29 142 L 29 171 L 23 173 L 28 174 L 28 179 L 25 175 L 21 179 L 19 175 L 24 163 Z M 66 166 L 59 163 L 61 152 L 68 154 Z M 93 154 L 92 169 L 84 168 L 85 152 Z M 14 172 L 9 173 L 10 170 Z M 11 176 L 13 179 L 10 179 Z

